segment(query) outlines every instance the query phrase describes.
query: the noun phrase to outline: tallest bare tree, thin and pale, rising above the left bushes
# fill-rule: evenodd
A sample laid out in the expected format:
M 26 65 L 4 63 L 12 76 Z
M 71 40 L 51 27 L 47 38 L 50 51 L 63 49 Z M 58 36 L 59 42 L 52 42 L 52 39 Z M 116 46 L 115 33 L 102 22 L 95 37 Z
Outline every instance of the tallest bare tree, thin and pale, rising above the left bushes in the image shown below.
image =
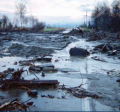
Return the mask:
M 16 4 L 16 15 L 19 18 L 21 27 L 23 26 L 25 20 L 26 5 L 23 1 L 20 1 Z

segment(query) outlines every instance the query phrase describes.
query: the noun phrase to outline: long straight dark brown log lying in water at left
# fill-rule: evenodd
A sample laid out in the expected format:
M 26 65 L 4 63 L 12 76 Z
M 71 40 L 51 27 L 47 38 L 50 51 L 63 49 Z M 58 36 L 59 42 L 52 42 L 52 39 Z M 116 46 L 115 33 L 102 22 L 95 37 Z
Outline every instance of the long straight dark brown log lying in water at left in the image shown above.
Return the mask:
M 2 80 L 1 83 L 3 85 L 9 85 L 9 87 L 14 86 L 52 86 L 57 85 L 59 82 L 57 80 L 13 80 L 13 79 L 6 79 Z

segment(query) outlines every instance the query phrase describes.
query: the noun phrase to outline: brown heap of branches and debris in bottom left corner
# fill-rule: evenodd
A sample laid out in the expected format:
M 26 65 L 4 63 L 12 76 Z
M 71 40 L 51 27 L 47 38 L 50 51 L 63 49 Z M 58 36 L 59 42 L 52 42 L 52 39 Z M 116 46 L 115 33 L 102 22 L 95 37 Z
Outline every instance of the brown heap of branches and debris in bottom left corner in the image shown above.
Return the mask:
M 0 105 L 0 111 L 28 111 L 28 107 L 18 99 L 15 99 Z

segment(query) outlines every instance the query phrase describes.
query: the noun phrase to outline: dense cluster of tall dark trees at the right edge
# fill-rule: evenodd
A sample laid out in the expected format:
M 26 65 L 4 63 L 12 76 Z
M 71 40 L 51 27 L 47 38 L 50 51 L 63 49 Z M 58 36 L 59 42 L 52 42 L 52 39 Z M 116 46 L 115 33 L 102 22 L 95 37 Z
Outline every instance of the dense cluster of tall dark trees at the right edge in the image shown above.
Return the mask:
M 92 19 L 92 25 L 89 23 L 89 27 L 102 31 L 120 31 L 120 1 L 114 0 L 111 6 L 100 3 L 95 7 Z

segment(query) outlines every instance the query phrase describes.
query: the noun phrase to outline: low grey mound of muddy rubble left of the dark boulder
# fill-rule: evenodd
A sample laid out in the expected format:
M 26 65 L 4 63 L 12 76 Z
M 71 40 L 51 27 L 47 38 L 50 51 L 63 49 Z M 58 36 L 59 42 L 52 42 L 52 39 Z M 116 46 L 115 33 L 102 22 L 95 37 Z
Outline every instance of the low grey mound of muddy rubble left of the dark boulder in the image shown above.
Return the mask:
M 37 46 L 23 46 L 22 44 L 12 44 L 8 48 L 8 53 L 11 53 L 15 56 L 42 56 L 42 55 L 49 55 L 54 52 L 52 48 L 41 48 Z

